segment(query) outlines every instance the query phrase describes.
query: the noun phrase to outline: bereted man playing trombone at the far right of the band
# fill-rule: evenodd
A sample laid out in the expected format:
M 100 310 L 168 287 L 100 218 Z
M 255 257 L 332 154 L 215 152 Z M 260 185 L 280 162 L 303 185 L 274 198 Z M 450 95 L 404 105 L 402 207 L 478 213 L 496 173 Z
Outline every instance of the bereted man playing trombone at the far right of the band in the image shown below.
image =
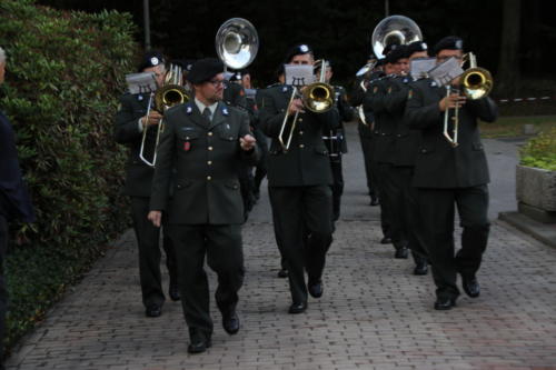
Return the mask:
M 463 40 L 444 38 L 434 51 L 437 62 L 448 58 L 461 60 Z M 458 89 L 459 78 L 450 84 Z M 458 144 L 453 146 L 443 136 L 443 128 L 446 111 L 454 117 L 456 107 L 459 107 Z M 418 190 L 425 247 L 436 284 L 434 307 L 449 310 L 459 296 L 458 273 L 467 296 L 476 298 L 480 293 L 476 273 L 489 233 L 489 176 L 478 120 L 495 121 L 497 108 L 488 97 L 476 100 L 466 100 L 458 93 L 447 97 L 445 87 L 423 79 L 409 90 L 405 116 L 409 127 L 421 132 L 413 186 Z M 456 207 L 463 233 L 461 249 L 454 254 Z

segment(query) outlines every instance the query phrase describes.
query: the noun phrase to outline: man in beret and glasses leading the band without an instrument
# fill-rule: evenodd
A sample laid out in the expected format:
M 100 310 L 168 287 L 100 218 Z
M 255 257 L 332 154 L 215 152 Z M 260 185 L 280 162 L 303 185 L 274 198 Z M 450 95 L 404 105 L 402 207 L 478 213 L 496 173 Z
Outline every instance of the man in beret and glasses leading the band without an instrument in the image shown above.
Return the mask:
M 224 64 L 200 59 L 188 76 L 195 99 L 166 112 L 152 181 L 149 220 L 167 230 L 176 246 L 178 284 L 189 327 L 190 353 L 211 346 L 209 287 L 203 270 L 218 274 L 216 303 L 229 334 L 239 330 L 236 312 L 244 282 L 239 190 L 240 162 L 256 163 L 258 150 L 249 134 L 247 112 L 221 102 Z M 170 194 L 172 193 L 172 198 Z

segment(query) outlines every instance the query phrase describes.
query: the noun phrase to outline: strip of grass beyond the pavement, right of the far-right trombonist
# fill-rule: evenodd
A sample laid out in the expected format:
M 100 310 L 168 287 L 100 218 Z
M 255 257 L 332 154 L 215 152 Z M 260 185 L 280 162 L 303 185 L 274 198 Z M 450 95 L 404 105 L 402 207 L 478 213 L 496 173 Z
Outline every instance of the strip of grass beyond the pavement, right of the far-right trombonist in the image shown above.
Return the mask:
M 480 122 L 483 138 L 523 137 L 524 124 L 533 124 L 535 133 L 556 127 L 556 116 L 499 117 L 494 123 Z

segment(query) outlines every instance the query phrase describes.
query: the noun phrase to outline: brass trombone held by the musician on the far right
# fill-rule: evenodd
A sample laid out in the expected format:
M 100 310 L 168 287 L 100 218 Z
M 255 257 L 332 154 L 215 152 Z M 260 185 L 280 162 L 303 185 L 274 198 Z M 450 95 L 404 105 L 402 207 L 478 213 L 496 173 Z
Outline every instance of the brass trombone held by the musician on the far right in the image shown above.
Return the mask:
M 469 68 L 461 73 L 459 77 L 461 81 L 461 92 L 469 100 L 477 100 L 487 97 L 493 90 L 493 76 L 490 72 L 484 68 L 477 67 L 477 58 L 473 52 L 464 56 L 464 62 L 467 57 L 469 61 Z M 453 91 L 451 86 L 446 87 L 446 97 L 449 97 Z M 459 90 L 457 90 L 459 92 Z M 451 136 L 449 131 L 449 109 L 446 109 L 444 112 L 444 130 L 443 134 L 451 144 L 451 147 L 456 148 L 458 146 L 457 133 L 459 129 L 459 106 L 454 108 L 454 117 L 451 118 L 454 121 L 454 128 Z

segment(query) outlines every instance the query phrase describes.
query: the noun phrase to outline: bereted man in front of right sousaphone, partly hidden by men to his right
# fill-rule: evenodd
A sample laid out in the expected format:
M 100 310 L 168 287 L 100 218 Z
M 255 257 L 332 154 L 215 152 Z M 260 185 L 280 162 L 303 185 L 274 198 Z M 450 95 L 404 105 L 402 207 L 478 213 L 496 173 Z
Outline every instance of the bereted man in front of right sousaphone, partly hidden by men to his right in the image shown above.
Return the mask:
M 374 159 L 377 163 L 377 181 L 380 193 L 380 213 L 388 220 L 389 237 L 395 248 L 395 258 L 408 257 L 407 239 L 403 230 L 403 223 L 397 212 L 399 189 L 394 182 L 394 150 L 396 139 L 397 120 L 388 111 L 386 98 L 388 91 L 393 90 L 393 80 L 407 72 L 407 48 L 405 46 L 388 46 L 385 52 L 384 71 L 386 76 L 370 83 L 365 96 L 364 109 L 375 114 L 374 126 Z

